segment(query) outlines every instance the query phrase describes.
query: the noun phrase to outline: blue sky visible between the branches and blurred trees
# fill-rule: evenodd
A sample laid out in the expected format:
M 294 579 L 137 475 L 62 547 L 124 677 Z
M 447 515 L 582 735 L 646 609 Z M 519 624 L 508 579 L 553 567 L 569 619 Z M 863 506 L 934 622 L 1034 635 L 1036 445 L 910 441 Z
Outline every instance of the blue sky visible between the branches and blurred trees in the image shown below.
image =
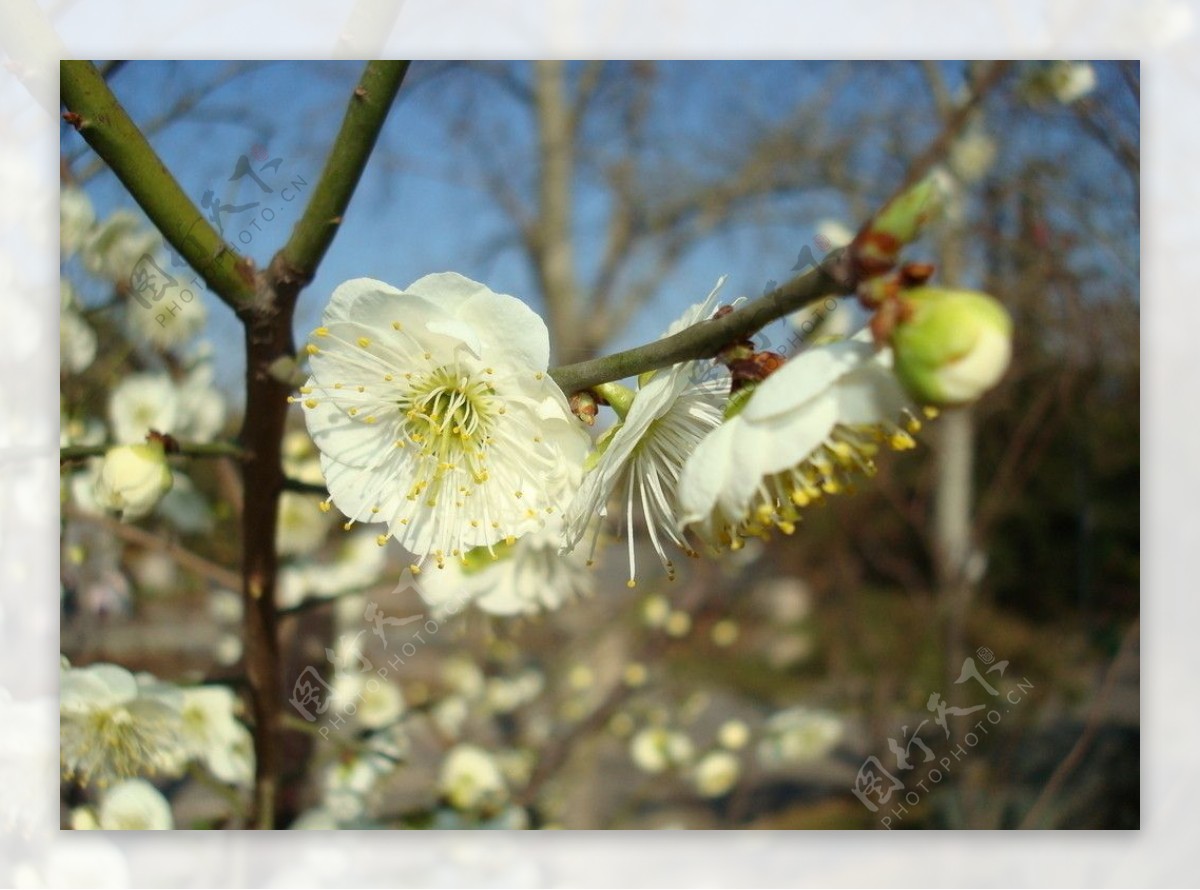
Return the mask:
M 263 265 L 287 239 L 306 190 L 317 181 L 361 65 L 280 61 L 229 77 L 233 66 L 226 61 L 131 62 L 112 85 L 134 120 L 146 125 L 196 84 L 223 79 L 151 140 L 198 204 L 210 190 L 233 206 L 258 202 L 257 208 L 223 218 L 227 240 Z M 941 67 L 955 89 L 962 65 Z M 580 67 L 571 71 L 576 77 Z M 816 124 L 827 134 L 839 128 L 853 134 L 848 162 L 870 178 L 869 191 L 884 194 L 894 185 L 892 178 L 902 174 L 895 140 L 918 145 L 934 132 L 919 72 L 896 64 L 860 65 L 848 82 L 830 85 L 830 71 L 820 64 L 786 61 L 664 62 L 648 115 L 647 157 L 665 170 L 719 170 L 722 154 L 752 140 L 758 128 L 778 124 L 805 102 L 828 100 Z M 528 65 L 514 65 L 510 72 L 517 84 L 529 76 Z M 827 92 L 834 89 L 835 95 Z M 856 131 L 856 125 L 881 109 L 892 115 L 900 109 L 905 116 L 889 120 L 904 121 L 905 132 L 865 125 Z M 611 118 L 600 114 L 583 131 L 588 150 L 602 160 L 613 160 L 622 150 L 612 143 L 611 127 Z M 1103 162 L 1093 157 L 1094 146 L 1081 144 L 1078 133 L 1064 128 L 1033 130 L 1010 143 L 1020 148 L 1022 139 L 1027 150 L 1074 157 L 1079 163 Z M 64 132 L 68 156 L 80 151 L 79 145 L 74 133 Z M 528 264 L 511 243 L 506 218 L 479 181 L 480 158 L 499 160 L 515 187 L 528 187 L 535 175 L 529 163 L 532 146 L 528 110 L 494 83 L 444 64 L 414 64 L 342 229 L 301 296 L 298 337 L 317 324 L 334 287 L 361 276 L 402 287 L 428 272 L 455 270 L 536 308 Z M 277 160 L 277 166 L 262 173 L 263 181 L 274 186 L 272 193 L 262 192 L 248 176 L 229 181 L 242 156 L 256 168 Z M 86 168 L 90 161 L 84 154 L 74 169 Z M 286 184 L 289 190 L 283 188 Z M 133 208 L 107 172 L 92 178 L 86 188 L 102 216 L 118 206 Z M 292 200 L 286 200 L 289 196 Z M 604 245 L 608 199 L 587 168 L 578 178 L 576 197 L 577 263 L 581 275 L 590 276 Z M 838 190 L 821 182 L 806 187 L 803 196 L 761 202 L 752 224 L 706 237 L 690 248 L 613 345 L 656 337 L 721 275 L 730 276 L 727 299 L 757 295 L 768 279 L 788 275 L 800 248 L 811 243 L 812 227 L 820 220 L 860 222 L 851 215 Z M 206 299 L 218 380 L 236 399 L 240 327 L 211 295 Z

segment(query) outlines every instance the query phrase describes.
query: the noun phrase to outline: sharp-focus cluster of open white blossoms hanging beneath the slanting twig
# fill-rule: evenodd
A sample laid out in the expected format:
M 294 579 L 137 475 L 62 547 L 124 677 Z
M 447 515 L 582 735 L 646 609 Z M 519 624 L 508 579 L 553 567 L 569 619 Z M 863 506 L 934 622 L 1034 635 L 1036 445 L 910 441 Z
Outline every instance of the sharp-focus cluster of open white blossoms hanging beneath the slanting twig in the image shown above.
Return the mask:
M 664 336 L 710 318 L 722 282 Z M 728 373 L 684 362 L 601 391 L 617 422 L 590 445 L 547 374 L 548 335 L 520 300 L 455 273 L 404 290 L 338 287 L 307 345 L 295 401 L 320 452 L 325 507 L 379 523 L 437 612 L 467 593 L 496 614 L 584 594 L 584 566 L 625 531 L 629 585 L 644 534 L 673 553 L 792 534 L 805 507 L 913 445 L 922 411 L 866 339 L 814 347 L 745 398 Z M 434 571 L 425 571 L 428 567 Z

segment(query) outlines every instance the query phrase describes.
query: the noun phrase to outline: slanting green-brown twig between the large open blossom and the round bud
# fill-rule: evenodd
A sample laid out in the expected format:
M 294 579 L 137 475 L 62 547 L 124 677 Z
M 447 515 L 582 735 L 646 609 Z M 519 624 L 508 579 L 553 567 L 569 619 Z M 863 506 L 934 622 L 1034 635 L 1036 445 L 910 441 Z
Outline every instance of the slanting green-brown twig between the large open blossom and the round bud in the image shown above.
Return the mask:
M 728 344 L 749 338 L 778 318 L 822 297 L 852 293 L 856 283 L 846 259 L 845 251 L 834 251 L 821 265 L 798 275 L 766 296 L 751 300 L 728 315 L 702 321 L 672 337 L 623 353 L 551 368 L 550 375 L 563 392 L 570 395 L 599 383 L 620 380 L 682 361 L 712 359 Z

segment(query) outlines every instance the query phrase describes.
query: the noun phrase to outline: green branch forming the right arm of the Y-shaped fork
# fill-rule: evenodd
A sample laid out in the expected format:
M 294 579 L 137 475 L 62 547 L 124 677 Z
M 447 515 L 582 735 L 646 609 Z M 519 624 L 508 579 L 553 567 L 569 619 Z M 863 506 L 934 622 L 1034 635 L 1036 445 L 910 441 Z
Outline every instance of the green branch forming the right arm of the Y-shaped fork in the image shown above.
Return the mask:
M 320 172 L 317 188 L 287 245 L 276 258 L 287 275 L 296 281 L 306 283 L 312 279 L 317 265 L 337 234 L 342 215 L 367 166 L 383 122 L 388 119 L 388 110 L 408 72 L 408 65 L 407 61 L 367 62 L 350 97 L 342 128 L 334 140 L 334 149 Z

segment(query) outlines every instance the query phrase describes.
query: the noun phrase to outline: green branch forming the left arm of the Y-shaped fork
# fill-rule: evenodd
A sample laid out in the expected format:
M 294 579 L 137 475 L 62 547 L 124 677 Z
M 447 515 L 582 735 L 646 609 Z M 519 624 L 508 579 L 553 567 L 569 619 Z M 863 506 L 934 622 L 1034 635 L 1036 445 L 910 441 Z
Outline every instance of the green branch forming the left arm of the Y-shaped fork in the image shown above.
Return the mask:
M 254 295 L 253 264 L 238 254 L 185 194 L 89 61 L 64 60 L 64 119 L 113 169 L 167 242 L 234 308 Z

